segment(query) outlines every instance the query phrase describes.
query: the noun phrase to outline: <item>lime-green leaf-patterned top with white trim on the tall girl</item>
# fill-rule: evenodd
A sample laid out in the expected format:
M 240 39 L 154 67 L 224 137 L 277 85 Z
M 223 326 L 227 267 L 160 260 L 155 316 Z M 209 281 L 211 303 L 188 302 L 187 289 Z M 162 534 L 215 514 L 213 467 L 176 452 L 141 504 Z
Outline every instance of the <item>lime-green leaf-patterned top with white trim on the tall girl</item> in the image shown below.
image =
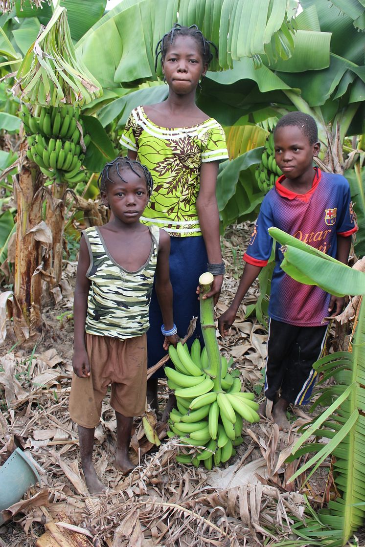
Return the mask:
M 157 224 L 170 236 L 200 236 L 195 205 L 200 166 L 228 158 L 222 126 L 209 118 L 191 127 L 167 129 L 154 124 L 138 106 L 120 143 L 137 152 L 137 159 L 153 177 L 153 193 L 141 222 Z

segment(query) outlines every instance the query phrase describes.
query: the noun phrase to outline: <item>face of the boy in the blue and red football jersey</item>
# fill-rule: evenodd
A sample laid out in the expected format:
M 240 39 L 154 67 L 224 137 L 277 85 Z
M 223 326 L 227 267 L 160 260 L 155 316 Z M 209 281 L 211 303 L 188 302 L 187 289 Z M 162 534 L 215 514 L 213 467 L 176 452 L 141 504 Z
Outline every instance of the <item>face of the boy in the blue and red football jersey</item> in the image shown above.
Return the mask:
M 309 143 L 297 125 L 279 127 L 274 134 L 275 160 L 288 179 L 312 172 L 313 157 L 320 151 L 320 143 Z

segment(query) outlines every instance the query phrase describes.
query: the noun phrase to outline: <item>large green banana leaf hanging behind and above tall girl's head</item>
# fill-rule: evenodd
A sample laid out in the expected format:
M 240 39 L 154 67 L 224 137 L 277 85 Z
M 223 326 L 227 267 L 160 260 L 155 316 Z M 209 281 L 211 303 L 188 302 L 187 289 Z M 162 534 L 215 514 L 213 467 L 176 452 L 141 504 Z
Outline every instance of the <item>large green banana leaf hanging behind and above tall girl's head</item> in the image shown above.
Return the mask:
M 286 0 L 124 0 L 79 40 L 77 51 L 103 87 L 154 79 L 154 48 L 176 21 L 198 25 L 218 45 L 213 70 L 245 57 L 257 65 L 263 55 L 288 59 L 293 50 Z

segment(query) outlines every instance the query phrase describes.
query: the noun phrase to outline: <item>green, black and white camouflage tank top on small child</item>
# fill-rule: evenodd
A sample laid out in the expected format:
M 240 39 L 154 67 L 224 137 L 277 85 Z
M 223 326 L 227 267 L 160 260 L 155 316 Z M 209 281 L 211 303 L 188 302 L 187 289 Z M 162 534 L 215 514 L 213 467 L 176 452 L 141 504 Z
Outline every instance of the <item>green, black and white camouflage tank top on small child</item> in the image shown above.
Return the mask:
M 97 226 L 83 230 L 90 255 L 86 277 L 91 282 L 86 333 L 125 340 L 141 336 L 149 329 L 148 308 L 160 231 L 157 226 L 148 228 L 152 237 L 150 254 L 146 264 L 134 272 L 113 260 Z

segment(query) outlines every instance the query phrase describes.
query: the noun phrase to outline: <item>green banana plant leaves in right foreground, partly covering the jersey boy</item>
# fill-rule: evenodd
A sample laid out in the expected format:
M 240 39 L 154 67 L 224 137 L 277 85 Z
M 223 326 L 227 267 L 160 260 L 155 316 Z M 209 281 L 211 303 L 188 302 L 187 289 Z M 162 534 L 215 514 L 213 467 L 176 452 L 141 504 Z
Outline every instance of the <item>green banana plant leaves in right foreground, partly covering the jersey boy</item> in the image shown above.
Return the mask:
M 351 269 L 337 260 L 300 242 L 276 228 L 269 229 L 284 253 L 282 269 L 295 280 L 315 284 L 338 296 L 365 294 L 365 273 Z M 310 469 L 306 480 L 315 472 L 323 460 L 332 455 L 334 482 L 339 493 L 327 509 L 317 513 L 308 510 L 305 523 L 294 526 L 296 542 L 281 542 L 277 545 L 326 545 L 343 547 L 352 533 L 363 525 L 365 517 L 363 447 L 365 444 L 365 306 L 360 305 L 357 316 L 352 350 L 331 353 L 314 364 L 317 373 L 322 373 L 320 397 L 313 405 L 329 404 L 316 420 L 305 427 L 304 433 L 293 446 L 295 459 L 304 453 L 312 456 L 290 480 Z M 323 386 L 329 378 L 335 384 Z M 310 435 L 328 439 L 326 444 L 305 444 Z

